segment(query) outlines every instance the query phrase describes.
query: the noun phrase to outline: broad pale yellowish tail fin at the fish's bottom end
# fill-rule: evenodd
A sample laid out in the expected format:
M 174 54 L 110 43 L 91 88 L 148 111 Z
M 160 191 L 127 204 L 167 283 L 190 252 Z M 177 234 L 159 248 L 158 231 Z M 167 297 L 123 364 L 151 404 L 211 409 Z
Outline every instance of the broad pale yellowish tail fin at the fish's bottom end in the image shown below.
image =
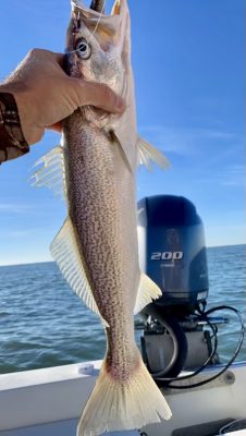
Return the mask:
M 160 422 L 160 416 L 169 420 L 172 413 L 142 358 L 127 380 L 112 377 L 104 361 L 82 413 L 77 436 L 142 428 Z

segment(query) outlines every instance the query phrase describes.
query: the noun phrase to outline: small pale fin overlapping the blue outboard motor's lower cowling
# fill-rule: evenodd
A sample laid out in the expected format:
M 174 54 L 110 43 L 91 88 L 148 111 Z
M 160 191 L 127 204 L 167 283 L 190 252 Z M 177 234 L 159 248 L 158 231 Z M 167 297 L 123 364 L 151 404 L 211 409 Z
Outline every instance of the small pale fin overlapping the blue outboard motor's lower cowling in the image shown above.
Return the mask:
M 146 274 L 142 272 L 139 287 L 137 292 L 134 315 L 138 314 L 152 300 L 159 299 L 162 295 L 160 288 Z

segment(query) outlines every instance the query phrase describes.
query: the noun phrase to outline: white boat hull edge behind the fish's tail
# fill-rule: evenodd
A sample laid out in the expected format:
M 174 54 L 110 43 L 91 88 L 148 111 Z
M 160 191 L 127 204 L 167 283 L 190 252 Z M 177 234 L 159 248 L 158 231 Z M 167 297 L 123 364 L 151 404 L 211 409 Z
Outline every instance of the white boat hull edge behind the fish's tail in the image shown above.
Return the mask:
M 100 364 L 97 361 L 0 375 L 0 436 L 75 435 Z M 207 371 L 206 377 L 218 371 Z M 234 364 L 226 376 L 225 382 L 221 378 L 196 389 L 165 391 L 172 420 L 142 431 L 148 436 L 172 436 L 179 428 L 245 417 L 246 363 Z

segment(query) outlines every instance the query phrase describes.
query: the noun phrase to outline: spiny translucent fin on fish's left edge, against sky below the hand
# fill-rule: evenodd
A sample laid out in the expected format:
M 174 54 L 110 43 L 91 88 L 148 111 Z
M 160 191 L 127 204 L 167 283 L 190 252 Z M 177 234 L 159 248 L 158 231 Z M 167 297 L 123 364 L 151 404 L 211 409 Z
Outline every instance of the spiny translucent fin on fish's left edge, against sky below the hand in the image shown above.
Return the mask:
M 32 175 L 33 186 L 47 186 L 56 195 L 66 197 L 65 170 L 63 147 L 61 145 L 52 148 L 35 162 L 35 167 L 41 165 L 39 170 Z

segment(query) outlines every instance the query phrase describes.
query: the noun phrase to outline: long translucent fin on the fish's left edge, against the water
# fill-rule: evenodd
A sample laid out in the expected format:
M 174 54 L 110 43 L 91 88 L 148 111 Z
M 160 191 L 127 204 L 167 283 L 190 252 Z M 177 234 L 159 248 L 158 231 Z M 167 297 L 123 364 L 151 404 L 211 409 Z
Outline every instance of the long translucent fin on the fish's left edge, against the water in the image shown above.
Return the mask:
M 95 301 L 87 277 L 86 265 L 77 249 L 76 237 L 70 218 L 66 218 L 54 238 L 50 251 L 72 290 L 100 317 L 103 326 L 109 327 L 100 315 Z

